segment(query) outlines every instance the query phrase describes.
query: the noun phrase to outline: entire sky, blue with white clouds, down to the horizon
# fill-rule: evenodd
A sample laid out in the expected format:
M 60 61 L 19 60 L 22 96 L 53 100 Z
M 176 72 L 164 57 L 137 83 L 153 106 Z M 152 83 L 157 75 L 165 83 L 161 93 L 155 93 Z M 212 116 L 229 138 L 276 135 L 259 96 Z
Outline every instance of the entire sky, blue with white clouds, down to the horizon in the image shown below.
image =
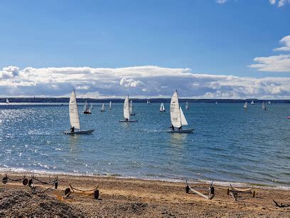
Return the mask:
M 290 99 L 290 0 L 2 0 L 0 12 L 0 97 Z

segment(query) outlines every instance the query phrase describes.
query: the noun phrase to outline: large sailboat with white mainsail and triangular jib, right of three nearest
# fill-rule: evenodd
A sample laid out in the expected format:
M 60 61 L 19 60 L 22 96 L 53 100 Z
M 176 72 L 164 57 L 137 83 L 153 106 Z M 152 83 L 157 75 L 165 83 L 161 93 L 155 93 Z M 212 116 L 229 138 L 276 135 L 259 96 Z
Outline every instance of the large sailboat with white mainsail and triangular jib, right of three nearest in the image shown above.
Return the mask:
M 170 102 L 170 117 L 171 117 L 171 128 L 168 133 L 192 133 L 193 129 L 182 129 L 184 125 L 188 125 L 186 117 L 183 114 L 181 106 L 178 102 L 177 90 L 173 93 Z

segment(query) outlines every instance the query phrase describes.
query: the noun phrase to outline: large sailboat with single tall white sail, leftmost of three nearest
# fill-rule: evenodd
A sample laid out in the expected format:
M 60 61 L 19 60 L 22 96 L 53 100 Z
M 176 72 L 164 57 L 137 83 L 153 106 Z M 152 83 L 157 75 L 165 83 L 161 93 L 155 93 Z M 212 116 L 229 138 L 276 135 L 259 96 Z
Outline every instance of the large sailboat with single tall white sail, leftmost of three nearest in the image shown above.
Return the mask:
M 63 132 L 63 134 L 67 135 L 81 135 L 81 134 L 90 134 L 95 130 L 80 130 L 80 116 L 77 110 L 77 98 L 75 97 L 75 90 L 70 95 L 70 105 L 69 105 L 69 112 L 70 112 L 70 126 L 71 130 Z M 76 130 L 77 129 L 77 130 Z M 73 131 L 72 131 L 73 130 Z

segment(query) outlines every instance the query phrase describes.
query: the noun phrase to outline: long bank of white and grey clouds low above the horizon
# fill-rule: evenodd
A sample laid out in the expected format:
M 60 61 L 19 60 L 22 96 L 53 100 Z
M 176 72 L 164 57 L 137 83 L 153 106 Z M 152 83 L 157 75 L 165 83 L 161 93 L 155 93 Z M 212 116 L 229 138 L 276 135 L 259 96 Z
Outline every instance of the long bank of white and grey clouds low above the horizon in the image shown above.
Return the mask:
M 1 97 L 290 98 L 290 78 L 244 78 L 193 73 L 189 68 L 24 68 L 0 71 Z

